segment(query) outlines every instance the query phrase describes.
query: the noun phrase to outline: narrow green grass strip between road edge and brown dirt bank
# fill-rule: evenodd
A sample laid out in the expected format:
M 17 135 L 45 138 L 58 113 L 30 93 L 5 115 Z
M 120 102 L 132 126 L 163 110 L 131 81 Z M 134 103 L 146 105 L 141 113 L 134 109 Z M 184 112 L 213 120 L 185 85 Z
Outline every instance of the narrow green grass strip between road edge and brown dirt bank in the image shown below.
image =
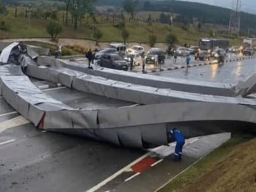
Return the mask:
M 196 181 L 200 176 L 203 176 L 204 173 L 211 171 L 215 162 L 226 158 L 226 156 L 232 152 L 234 147 L 239 146 L 244 142 L 248 142 L 248 138 L 243 138 L 241 136 L 232 137 L 228 142 L 224 143 L 218 149 L 214 150 L 208 156 L 189 168 L 186 172 L 172 180 L 164 188 L 159 190 L 159 192 L 173 192 L 181 189 L 185 184 L 190 184 Z M 212 180 L 212 182 L 214 181 Z M 181 189 L 180 191 L 187 192 L 189 190 Z

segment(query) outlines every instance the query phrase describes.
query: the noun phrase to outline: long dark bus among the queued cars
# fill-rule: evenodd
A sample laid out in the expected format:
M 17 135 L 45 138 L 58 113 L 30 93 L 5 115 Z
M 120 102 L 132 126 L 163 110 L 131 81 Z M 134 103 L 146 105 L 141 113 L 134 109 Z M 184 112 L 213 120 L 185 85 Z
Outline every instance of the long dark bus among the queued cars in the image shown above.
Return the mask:
M 203 38 L 203 39 L 200 39 L 199 41 L 200 50 L 212 51 L 214 48 L 227 49 L 228 46 L 229 46 L 229 40 L 226 40 L 226 39 Z

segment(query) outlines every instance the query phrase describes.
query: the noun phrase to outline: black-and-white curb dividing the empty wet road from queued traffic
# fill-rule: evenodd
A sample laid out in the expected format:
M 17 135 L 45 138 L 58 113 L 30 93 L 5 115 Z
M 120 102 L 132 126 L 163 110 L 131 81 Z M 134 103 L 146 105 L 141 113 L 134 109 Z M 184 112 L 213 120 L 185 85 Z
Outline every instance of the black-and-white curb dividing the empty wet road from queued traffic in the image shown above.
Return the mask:
M 248 60 L 248 59 L 254 59 L 256 56 L 248 56 L 248 57 L 242 57 L 242 58 L 236 58 L 236 59 L 229 59 L 225 60 L 225 62 L 236 62 L 236 61 L 242 61 L 242 60 Z M 199 66 L 205 66 L 205 65 L 212 65 L 212 64 L 218 64 L 217 61 L 207 62 L 207 63 L 199 63 L 199 64 L 191 64 L 188 66 L 188 68 L 194 68 Z M 147 70 L 144 73 L 150 74 L 150 73 L 156 73 L 156 72 L 163 72 L 163 71 L 172 71 L 172 70 L 179 70 L 184 69 L 185 66 L 176 66 L 176 67 L 170 67 L 170 68 L 160 68 L 160 69 L 153 69 L 153 70 Z

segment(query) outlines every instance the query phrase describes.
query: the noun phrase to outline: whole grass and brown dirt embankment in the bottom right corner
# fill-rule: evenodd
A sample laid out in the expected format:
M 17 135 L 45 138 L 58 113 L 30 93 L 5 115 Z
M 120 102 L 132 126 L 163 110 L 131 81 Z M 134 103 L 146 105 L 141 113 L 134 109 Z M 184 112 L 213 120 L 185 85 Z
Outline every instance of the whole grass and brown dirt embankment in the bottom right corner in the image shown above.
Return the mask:
M 159 192 L 255 192 L 256 139 L 235 137 Z

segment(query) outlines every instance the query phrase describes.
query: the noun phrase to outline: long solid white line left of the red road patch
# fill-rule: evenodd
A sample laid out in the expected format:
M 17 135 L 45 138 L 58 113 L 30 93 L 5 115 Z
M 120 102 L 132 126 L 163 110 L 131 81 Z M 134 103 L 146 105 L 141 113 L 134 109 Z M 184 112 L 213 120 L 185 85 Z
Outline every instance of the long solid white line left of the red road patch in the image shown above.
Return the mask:
M 140 162 L 142 159 L 146 158 L 147 156 L 149 156 L 150 152 L 144 154 L 143 156 L 141 156 L 140 158 L 134 160 L 133 162 L 131 162 L 130 164 L 128 164 L 127 166 L 125 166 L 124 168 L 120 169 L 118 172 L 112 174 L 111 176 L 109 176 L 108 178 L 106 178 L 105 180 L 103 180 L 102 182 L 98 183 L 97 185 L 95 185 L 94 187 L 86 190 L 85 192 L 94 192 L 96 190 L 98 190 L 99 188 L 101 188 L 102 186 L 106 185 L 108 182 L 112 181 L 114 178 L 116 178 L 117 176 L 119 176 L 120 174 L 122 174 L 123 172 L 125 172 L 126 170 L 128 170 L 130 167 L 132 167 L 134 164 Z

